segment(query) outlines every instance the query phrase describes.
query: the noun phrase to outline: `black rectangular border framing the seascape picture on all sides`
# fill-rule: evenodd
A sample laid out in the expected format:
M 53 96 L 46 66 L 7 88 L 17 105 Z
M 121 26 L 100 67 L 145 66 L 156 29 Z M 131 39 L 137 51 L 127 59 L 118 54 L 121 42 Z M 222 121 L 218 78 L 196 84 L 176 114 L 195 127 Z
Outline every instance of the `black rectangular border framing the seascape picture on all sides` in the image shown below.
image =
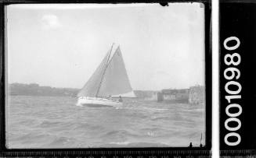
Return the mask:
M 11 4 L 42 4 L 42 3 L 160 3 L 164 6 L 173 2 L 201 2 L 204 4 L 204 34 L 205 34 L 205 146 L 203 147 L 150 147 L 150 148 L 89 148 L 89 149 L 7 149 L 5 144 L 5 5 Z M 141 156 L 210 156 L 211 155 L 211 108 L 212 108 L 212 67 L 211 67 L 211 0 L 4 0 L 0 2 L 0 156 L 103 156 L 109 155 L 141 155 Z M 189 145 L 188 145 L 189 146 Z

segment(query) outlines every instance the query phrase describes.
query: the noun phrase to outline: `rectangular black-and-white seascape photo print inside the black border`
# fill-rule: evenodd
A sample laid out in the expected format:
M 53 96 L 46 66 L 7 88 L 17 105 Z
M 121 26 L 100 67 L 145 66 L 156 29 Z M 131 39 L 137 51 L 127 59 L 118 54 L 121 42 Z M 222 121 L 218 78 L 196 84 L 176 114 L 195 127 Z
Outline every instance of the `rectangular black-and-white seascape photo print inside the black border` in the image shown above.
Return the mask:
M 206 146 L 204 7 L 6 5 L 6 148 Z

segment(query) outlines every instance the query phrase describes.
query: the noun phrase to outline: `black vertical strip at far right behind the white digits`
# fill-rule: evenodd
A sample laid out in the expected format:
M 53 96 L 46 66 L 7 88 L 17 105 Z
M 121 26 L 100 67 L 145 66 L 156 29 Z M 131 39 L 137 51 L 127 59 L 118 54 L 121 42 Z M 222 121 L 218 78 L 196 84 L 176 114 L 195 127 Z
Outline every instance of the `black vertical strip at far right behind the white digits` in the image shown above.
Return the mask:
M 256 93 L 255 93 L 255 66 L 256 66 L 256 1 L 254 0 L 220 0 L 219 3 L 219 136 L 220 136 L 220 155 L 221 156 L 256 156 Z M 240 40 L 239 47 L 235 50 L 228 50 L 224 46 L 224 41 L 229 37 L 237 37 Z M 228 41 L 228 40 L 226 40 Z M 232 44 L 231 40 L 229 44 Z M 227 45 L 229 45 L 227 44 Z M 241 62 L 238 65 L 225 64 L 225 55 L 237 53 L 240 55 Z M 240 71 L 238 79 L 226 79 L 224 72 L 227 68 L 234 67 Z M 229 101 L 226 96 L 231 96 L 226 90 L 225 85 L 229 81 L 239 83 L 241 98 Z M 232 88 L 230 90 L 233 90 Z M 230 104 L 239 104 L 241 114 L 234 117 L 240 120 L 240 128 L 231 131 L 225 127 L 225 121 L 232 118 L 226 114 L 226 107 Z M 228 122 L 228 121 L 227 121 Z M 234 122 L 233 122 L 234 123 Z M 232 127 L 232 123 L 229 123 Z M 235 124 L 236 125 L 236 124 Z M 227 123 L 228 126 L 228 123 Z M 225 136 L 229 133 L 240 135 L 240 142 L 236 145 L 228 145 Z M 230 142 L 236 141 L 236 137 L 229 137 Z M 237 139 L 238 140 L 238 139 Z

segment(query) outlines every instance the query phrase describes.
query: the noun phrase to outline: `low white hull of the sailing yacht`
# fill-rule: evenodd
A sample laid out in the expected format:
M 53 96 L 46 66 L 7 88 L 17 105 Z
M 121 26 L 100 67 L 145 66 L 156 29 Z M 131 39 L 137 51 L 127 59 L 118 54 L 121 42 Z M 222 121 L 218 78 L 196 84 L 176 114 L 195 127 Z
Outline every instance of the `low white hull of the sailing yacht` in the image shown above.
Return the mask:
M 79 97 L 77 106 L 88 106 L 88 107 L 118 107 L 122 103 L 119 101 L 108 100 L 99 97 Z

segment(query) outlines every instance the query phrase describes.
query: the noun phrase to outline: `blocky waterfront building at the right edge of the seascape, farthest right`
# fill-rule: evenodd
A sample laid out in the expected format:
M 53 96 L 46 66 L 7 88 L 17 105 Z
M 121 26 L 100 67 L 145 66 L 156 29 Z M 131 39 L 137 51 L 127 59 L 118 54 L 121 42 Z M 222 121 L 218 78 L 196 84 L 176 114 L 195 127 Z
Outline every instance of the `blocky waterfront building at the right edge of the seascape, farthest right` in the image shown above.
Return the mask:
M 205 87 L 189 87 L 189 104 L 203 104 L 205 101 Z

